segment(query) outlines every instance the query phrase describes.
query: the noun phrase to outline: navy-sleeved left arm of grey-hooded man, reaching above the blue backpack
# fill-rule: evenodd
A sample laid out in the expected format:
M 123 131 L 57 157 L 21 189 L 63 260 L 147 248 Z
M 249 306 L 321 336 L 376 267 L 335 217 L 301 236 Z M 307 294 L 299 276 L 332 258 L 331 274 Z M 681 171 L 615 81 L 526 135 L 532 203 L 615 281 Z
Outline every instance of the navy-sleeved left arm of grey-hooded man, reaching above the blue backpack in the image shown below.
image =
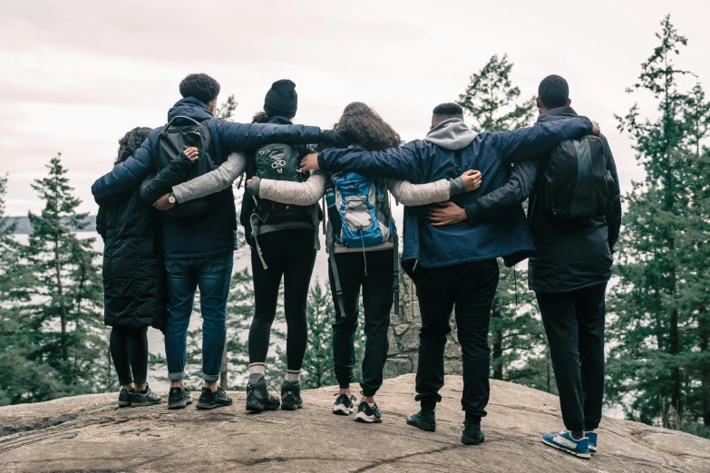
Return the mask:
M 421 143 L 423 141 L 414 140 L 400 148 L 390 148 L 384 151 L 365 151 L 354 148 L 325 150 L 317 156 L 317 167 L 330 172 L 354 171 L 365 176 L 417 182 L 420 175 L 419 165 L 425 159 L 422 156 Z M 313 160 L 310 158 L 312 156 L 306 156 L 301 161 L 301 168 Z

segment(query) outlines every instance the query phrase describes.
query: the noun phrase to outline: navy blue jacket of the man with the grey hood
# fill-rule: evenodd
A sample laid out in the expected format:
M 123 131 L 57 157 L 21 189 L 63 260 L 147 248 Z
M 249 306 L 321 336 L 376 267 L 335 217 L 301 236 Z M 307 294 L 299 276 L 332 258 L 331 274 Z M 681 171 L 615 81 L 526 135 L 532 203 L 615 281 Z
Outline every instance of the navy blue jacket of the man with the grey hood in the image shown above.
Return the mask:
M 453 179 L 465 170 L 478 169 L 483 175 L 481 187 L 452 198 L 465 206 L 503 186 L 510 176 L 511 162 L 535 158 L 559 142 L 591 130 L 591 121 L 577 118 L 536 123 L 520 130 L 483 132 L 457 151 L 423 140 L 384 151 L 325 150 L 318 155 L 318 165 L 327 171 L 355 171 L 415 184 Z M 423 267 L 440 267 L 510 256 L 505 258 L 506 265 L 514 265 L 535 249 L 520 206 L 493 221 L 465 221 L 449 227 L 432 227 L 424 209 L 405 208 L 403 261 L 418 260 Z

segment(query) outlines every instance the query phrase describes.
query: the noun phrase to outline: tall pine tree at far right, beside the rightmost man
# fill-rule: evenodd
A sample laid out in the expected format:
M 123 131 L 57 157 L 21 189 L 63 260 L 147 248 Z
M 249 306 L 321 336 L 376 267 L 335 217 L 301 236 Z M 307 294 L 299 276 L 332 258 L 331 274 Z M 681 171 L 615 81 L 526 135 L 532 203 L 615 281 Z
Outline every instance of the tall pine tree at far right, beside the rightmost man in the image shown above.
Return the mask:
M 694 399 L 705 389 L 697 389 L 703 363 L 698 364 L 702 358 L 696 351 L 707 359 L 702 350 L 706 332 L 698 330 L 708 301 L 704 266 L 710 214 L 701 146 L 707 104 L 701 88 L 689 94 L 680 90 L 679 80 L 688 72 L 677 69 L 675 59 L 687 40 L 669 16 L 657 38 L 660 44 L 628 92 L 650 92 L 659 116 L 642 118 L 634 105 L 617 117 L 618 129 L 634 140 L 646 178 L 635 182 L 625 198 L 628 210 L 617 253 L 620 278 L 610 301 L 608 397 L 625 404 L 631 419 L 682 428 L 677 419 L 688 410 L 701 414 L 702 401 Z

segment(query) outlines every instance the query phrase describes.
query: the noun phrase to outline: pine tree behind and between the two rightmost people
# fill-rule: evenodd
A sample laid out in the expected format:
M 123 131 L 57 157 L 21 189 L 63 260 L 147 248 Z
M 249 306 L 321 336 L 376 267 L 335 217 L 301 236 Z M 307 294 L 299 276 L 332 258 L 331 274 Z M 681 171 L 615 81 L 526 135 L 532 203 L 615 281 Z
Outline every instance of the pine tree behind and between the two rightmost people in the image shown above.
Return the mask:
M 520 101 L 520 89 L 511 82 L 512 67 L 507 54 L 501 59 L 496 54 L 480 72 L 472 74 L 457 103 L 471 116 L 473 130 L 507 131 L 530 125 L 535 100 Z M 544 359 L 544 354 L 540 354 L 546 344 L 544 331 L 533 307 L 534 295 L 524 279 L 517 277 L 514 267 L 502 268 L 491 309 L 489 340 L 494 379 L 525 383 L 540 372 L 539 368 L 527 367 L 524 361 L 540 356 Z

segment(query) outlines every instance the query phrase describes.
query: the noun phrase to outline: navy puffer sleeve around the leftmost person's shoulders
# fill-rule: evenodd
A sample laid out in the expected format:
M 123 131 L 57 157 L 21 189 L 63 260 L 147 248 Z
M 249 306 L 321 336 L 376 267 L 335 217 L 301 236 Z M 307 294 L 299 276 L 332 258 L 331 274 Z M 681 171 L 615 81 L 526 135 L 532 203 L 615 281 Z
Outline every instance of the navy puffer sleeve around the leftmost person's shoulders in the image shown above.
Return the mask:
M 137 188 L 153 170 L 152 134 L 143 141 L 129 159 L 117 164 L 111 172 L 97 179 L 92 185 L 93 198 L 99 203 L 103 198 L 122 194 Z

